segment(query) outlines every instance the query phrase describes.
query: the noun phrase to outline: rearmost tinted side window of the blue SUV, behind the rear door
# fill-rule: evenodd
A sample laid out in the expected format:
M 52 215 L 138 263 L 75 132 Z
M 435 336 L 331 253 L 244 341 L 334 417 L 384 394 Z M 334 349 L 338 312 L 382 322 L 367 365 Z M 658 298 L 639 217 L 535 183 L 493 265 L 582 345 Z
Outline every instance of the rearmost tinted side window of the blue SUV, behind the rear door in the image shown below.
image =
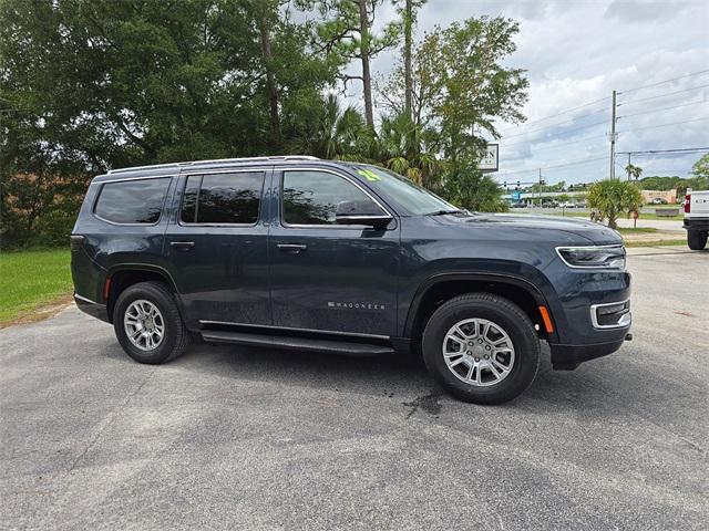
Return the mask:
M 107 183 L 101 188 L 94 212 L 114 223 L 156 223 L 169 177 Z

